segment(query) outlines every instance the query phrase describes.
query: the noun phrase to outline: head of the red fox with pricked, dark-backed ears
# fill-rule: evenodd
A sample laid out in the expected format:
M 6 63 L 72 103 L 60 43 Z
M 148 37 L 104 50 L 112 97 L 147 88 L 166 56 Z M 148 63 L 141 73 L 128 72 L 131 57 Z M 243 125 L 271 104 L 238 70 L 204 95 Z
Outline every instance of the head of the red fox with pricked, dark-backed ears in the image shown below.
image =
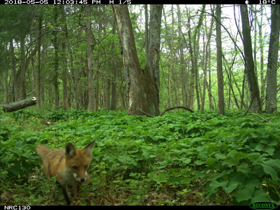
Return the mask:
M 89 143 L 84 149 L 75 149 L 71 143 L 67 143 L 65 146 L 66 167 L 68 167 L 78 182 L 86 181 L 94 145 L 95 141 Z

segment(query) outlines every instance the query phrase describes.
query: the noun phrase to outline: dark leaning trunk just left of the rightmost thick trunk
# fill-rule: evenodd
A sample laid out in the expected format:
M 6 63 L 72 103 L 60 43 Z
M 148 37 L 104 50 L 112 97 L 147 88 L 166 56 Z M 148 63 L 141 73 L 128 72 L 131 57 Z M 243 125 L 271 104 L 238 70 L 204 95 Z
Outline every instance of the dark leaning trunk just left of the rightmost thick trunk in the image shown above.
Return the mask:
M 252 101 L 252 110 L 254 112 L 260 112 L 260 91 L 258 89 L 255 71 L 254 71 L 254 60 L 252 52 L 251 42 L 251 29 L 248 17 L 247 5 L 240 5 L 241 19 L 242 19 L 242 35 L 243 35 L 243 46 L 244 46 L 244 57 L 245 57 L 245 69 L 248 87 L 250 91 L 250 98 Z

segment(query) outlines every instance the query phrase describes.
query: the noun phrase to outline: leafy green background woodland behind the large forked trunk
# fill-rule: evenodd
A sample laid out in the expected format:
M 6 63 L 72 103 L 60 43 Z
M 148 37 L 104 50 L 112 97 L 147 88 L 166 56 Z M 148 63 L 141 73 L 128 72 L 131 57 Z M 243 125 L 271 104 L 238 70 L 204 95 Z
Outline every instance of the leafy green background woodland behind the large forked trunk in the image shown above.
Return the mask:
M 86 5 L 1 5 L 0 104 L 36 97 L 39 109 L 41 105 L 54 110 L 131 107 L 128 92 L 132 89 L 129 84 L 133 83 L 128 77 L 131 69 L 123 66 L 113 7 L 92 5 L 88 13 L 86 8 Z M 151 62 L 149 33 L 154 31 L 149 29 L 154 24 L 150 19 L 153 13 L 146 5 L 128 8 L 129 16 L 125 18 L 132 24 L 131 35 L 137 51 L 137 58 L 133 59 L 138 60 L 140 71 Z M 239 5 L 222 6 L 221 18 L 216 8 L 210 4 L 163 6 L 160 25 L 156 26 L 160 29 L 159 58 L 155 62 L 156 74 L 152 76 L 156 79 L 151 81 L 156 83 L 159 110 L 172 106 L 201 111 L 218 109 L 218 90 L 223 88 L 225 109 L 246 109 L 254 96 L 260 106 L 253 103 L 254 111 L 276 112 L 280 96 L 279 24 L 273 22 L 271 11 L 275 8 L 277 20 L 278 6 L 246 6 L 243 16 L 248 22 L 245 19 L 242 22 Z M 218 54 L 217 24 L 221 26 Z M 249 30 L 243 31 L 246 28 Z M 271 33 L 273 30 L 275 33 Z M 245 46 L 249 44 L 247 39 L 250 46 Z M 275 50 L 270 55 L 272 47 Z M 251 51 L 247 53 L 244 49 Z M 218 69 L 223 77 L 220 88 Z M 256 82 L 252 82 L 252 73 Z M 142 83 L 146 82 L 146 76 L 140 78 Z M 135 106 L 139 107 L 143 101 Z M 140 109 L 137 114 L 143 114 Z

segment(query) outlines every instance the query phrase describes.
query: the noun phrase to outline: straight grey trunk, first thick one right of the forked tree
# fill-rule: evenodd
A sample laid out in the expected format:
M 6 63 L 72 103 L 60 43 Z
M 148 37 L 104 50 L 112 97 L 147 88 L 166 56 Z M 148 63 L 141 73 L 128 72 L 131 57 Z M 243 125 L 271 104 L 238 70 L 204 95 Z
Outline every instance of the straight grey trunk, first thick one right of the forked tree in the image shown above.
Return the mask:
M 217 4 L 216 16 L 221 21 L 221 4 Z M 218 77 L 218 110 L 219 114 L 224 115 L 224 78 L 222 68 L 222 39 L 221 24 L 216 21 L 216 43 L 217 43 L 217 77 Z

